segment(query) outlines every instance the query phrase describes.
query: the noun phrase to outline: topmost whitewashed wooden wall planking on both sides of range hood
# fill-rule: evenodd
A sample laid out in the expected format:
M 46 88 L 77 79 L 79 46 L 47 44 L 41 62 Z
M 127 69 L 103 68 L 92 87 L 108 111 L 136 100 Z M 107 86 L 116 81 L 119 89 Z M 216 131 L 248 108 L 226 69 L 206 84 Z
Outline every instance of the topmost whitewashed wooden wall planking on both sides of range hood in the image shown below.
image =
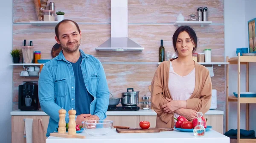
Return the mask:
M 224 0 L 128 0 L 128 22 L 175 22 L 185 20 L 197 8 L 208 7 L 208 21 L 224 23 Z M 111 0 L 51 0 L 56 11 L 76 22 L 111 22 Z M 49 1 L 47 3 L 49 9 Z M 33 0 L 13 0 L 13 22 L 37 21 Z

